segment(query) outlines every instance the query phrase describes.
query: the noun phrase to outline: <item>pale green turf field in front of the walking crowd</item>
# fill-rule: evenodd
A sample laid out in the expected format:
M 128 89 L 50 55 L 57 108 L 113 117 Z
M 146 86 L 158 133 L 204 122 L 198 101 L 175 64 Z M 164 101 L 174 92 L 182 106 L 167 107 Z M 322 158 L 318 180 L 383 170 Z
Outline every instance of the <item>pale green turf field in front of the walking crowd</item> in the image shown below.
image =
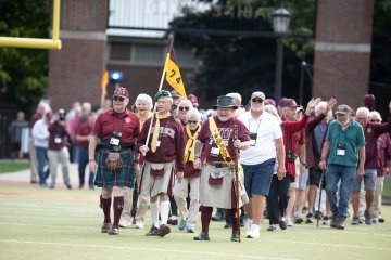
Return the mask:
M 223 222 L 212 222 L 211 242 L 194 242 L 194 234 L 174 226 L 164 238 L 147 237 L 149 218 L 144 230 L 123 229 L 109 236 L 100 233 L 98 200 L 99 190 L 0 183 L 0 259 L 391 259 L 389 206 L 383 206 L 383 224 L 348 223 L 345 231 L 301 224 L 267 232 L 263 223 L 260 239 L 232 243 Z

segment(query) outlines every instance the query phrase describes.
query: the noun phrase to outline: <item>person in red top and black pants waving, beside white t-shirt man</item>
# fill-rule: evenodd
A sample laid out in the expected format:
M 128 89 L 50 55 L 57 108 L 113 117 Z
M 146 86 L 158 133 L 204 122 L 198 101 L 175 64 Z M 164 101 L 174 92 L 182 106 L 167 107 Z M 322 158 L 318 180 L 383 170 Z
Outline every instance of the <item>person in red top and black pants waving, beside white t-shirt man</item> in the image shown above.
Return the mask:
M 285 210 L 289 202 L 289 187 L 290 183 L 294 181 L 295 178 L 295 165 L 293 158 L 294 154 L 291 151 L 292 147 L 292 135 L 293 133 L 304 129 L 311 110 L 319 103 L 320 99 L 312 99 L 305 109 L 304 116 L 300 121 L 282 121 L 282 134 L 283 134 L 283 145 L 286 147 L 286 161 L 285 166 L 287 173 L 275 174 L 272 179 L 269 195 L 267 196 L 267 216 L 269 218 L 269 227 L 267 231 L 275 231 L 276 225 L 279 224 L 281 230 L 287 229 L 287 222 L 283 218 Z M 292 99 L 286 99 L 283 102 L 285 107 L 295 110 L 297 104 Z

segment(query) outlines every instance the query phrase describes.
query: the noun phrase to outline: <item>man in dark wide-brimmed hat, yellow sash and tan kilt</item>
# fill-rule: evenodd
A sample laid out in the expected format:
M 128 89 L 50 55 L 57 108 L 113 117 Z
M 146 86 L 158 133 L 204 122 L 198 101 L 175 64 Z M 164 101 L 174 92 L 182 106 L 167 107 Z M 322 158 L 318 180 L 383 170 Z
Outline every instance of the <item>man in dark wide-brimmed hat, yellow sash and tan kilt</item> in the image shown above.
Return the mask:
M 228 209 L 232 220 L 231 240 L 238 242 L 239 229 L 236 211 L 242 206 L 241 198 L 237 197 L 234 186 L 235 165 L 238 164 L 236 150 L 245 150 L 250 145 L 250 133 L 247 127 L 234 117 L 231 96 L 220 95 L 217 98 L 217 116 L 210 117 L 202 125 L 195 143 L 194 168 L 201 169 L 200 159 L 203 144 L 205 147 L 206 164 L 202 168 L 200 178 L 200 211 L 202 232 L 194 240 L 210 240 L 209 225 L 212 218 L 213 207 Z M 238 136 L 234 139 L 234 128 L 237 126 Z M 245 193 L 241 185 L 240 194 Z M 239 200 L 239 203 L 238 203 Z

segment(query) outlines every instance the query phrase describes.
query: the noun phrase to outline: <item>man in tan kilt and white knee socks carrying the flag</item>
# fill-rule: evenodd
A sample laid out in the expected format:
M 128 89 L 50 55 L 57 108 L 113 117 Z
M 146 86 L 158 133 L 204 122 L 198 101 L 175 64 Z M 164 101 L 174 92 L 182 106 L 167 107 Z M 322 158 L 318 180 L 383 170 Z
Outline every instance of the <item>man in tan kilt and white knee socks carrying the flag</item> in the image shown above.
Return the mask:
M 182 126 L 169 113 L 173 105 L 171 93 L 160 90 L 154 101 L 157 113 L 144 122 L 137 146 L 146 155 L 141 171 L 140 195 L 151 197 L 152 227 L 147 235 L 163 237 L 171 232 L 167 220 L 169 196 L 173 195 L 174 172 L 176 172 L 178 183 L 184 178 L 185 136 Z M 151 138 L 149 136 L 150 128 L 153 129 Z

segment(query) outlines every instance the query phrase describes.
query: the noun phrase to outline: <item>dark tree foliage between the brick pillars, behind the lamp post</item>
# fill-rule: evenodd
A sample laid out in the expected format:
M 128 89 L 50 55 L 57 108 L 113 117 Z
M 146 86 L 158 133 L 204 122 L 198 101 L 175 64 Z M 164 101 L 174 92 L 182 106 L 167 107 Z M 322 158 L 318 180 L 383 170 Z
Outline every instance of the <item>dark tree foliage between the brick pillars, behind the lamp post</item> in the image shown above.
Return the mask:
M 292 12 L 291 30 L 300 34 L 314 32 L 314 0 L 286 1 Z M 255 18 L 212 17 L 213 11 L 203 13 L 186 10 L 182 17 L 172 21 L 175 28 L 253 30 L 273 32 L 272 12 L 279 6 L 277 1 L 226 0 L 213 4 L 225 8 L 242 9 L 251 6 L 261 12 Z M 299 16 L 297 18 L 297 16 Z M 247 100 L 255 90 L 273 96 L 276 67 L 276 41 L 274 38 L 253 36 L 218 36 L 211 34 L 175 36 L 178 44 L 191 47 L 202 62 L 195 69 L 190 82 L 190 91 L 211 101 L 216 95 L 239 92 Z M 300 64 L 302 58 L 312 61 L 313 39 L 288 37 L 285 39 L 285 68 L 282 94 L 298 96 L 300 84 Z M 307 86 L 307 89 L 310 86 Z

